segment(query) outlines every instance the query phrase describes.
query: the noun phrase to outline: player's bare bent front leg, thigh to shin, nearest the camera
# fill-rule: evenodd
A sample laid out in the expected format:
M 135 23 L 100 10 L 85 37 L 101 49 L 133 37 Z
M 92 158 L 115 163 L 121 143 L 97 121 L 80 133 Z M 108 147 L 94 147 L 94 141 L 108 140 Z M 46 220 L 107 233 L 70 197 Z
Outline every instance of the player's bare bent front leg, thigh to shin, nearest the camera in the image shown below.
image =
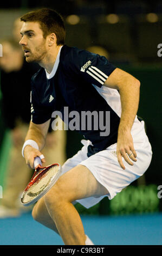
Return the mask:
M 107 193 L 90 170 L 79 165 L 63 174 L 44 196 L 48 212 L 65 245 L 85 245 L 86 241 L 81 218 L 72 202 Z

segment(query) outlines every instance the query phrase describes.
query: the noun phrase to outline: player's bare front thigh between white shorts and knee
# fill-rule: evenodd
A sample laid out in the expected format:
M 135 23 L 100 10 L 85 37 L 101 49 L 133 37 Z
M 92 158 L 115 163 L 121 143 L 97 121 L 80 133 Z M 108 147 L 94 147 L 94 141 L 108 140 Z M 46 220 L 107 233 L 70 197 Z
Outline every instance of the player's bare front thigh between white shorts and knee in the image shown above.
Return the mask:
M 79 164 L 64 173 L 51 190 L 46 194 L 45 200 L 50 202 L 61 202 L 66 200 L 74 202 L 87 197 L 98 197 L 108 194 L 107 189 L 102 186 L 90 172 L 90 170 Z

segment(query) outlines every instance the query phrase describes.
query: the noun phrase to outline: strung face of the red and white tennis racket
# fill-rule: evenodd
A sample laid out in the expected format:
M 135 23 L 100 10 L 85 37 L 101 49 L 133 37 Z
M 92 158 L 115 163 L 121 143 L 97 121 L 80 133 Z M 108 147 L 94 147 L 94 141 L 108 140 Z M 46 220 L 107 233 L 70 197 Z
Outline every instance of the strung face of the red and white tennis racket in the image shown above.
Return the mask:
M 23 202 L 29 202 L 38 196 L 46 187 L 49 186 L 50 182 L 56 176 L 59 171 L 58 166 L 52 166 L 42 170 L 41 173 L 37 174 L 33 184 L 28 187 L 25 191 Z

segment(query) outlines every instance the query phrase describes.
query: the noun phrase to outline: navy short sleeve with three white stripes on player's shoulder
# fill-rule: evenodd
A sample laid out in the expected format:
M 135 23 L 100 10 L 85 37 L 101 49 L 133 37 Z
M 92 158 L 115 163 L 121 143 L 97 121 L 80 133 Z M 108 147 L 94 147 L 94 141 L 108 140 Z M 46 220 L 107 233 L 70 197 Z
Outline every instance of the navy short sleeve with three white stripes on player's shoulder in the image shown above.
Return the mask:
M 116 69 L 104 56 L 74 48 L 71 55 L 71 70 L 89 83 L 103 86 Z

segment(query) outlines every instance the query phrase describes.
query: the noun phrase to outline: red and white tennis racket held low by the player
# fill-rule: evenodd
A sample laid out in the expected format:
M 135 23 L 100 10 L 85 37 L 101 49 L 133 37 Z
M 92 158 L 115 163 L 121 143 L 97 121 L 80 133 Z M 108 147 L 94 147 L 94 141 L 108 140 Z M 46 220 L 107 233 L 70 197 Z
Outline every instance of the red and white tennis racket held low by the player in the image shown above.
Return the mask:
M 44 196 L 55 184 L 61 175 L 61 166 L 59 163 L 42 167 L 40 157 L 34 160 L 35 172 L 29 184 L 23 191 L 21 203 L 25 206 L 34 204 L 38 199 Z

